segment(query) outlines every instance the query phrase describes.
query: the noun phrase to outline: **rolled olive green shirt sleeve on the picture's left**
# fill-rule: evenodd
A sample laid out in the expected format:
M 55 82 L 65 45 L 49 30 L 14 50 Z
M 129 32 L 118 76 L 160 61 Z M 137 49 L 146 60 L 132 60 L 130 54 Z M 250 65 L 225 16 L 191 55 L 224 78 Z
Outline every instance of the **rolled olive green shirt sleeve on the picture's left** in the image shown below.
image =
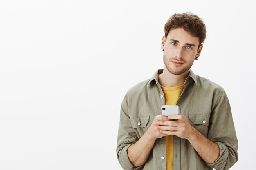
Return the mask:
M 130 162 L 127 150 L 135 143 L 138 137 L 132 128 L 127 109 L 127 96 L 121 104 L 120 122 L 117 137 L 117 159 L 124 170 L 140 170 L 143 166 L 135 167 Z

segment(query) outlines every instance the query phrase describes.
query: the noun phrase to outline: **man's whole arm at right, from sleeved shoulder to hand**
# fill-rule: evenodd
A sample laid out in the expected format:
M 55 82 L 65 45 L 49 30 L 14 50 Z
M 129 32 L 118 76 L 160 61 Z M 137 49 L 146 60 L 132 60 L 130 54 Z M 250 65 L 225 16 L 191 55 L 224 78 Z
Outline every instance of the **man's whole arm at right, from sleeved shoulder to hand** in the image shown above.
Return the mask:
M 229 101 L 223 89 L 211 111 L 207 139 L 197 130 L 193 131 L 193 127 L 191 131 L 191 125 L 182 114 L 168 118 L 180 120 L 160 122 L 158 126 L 160 132 L 164 135 L 176 135 L 188 139 L 207 166 L 216 170 L 227 170 L 238 160 L 238 140 Z M 206 150 L 214 156 L 208 155 Z M 212 163 L 213 160 L 215 161 Z

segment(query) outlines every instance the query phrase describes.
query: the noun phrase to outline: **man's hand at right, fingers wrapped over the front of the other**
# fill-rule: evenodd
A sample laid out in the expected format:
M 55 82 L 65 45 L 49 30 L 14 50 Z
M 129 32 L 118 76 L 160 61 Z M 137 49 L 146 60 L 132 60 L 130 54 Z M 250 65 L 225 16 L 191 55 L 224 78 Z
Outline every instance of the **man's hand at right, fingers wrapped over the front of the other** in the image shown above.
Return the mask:
M 188 119 L 182 113 L 170 115 L 167 118 L 169 119 L 168 121 L 157 121 L 157 129 L 162 135 L 176 135 L 185 139 L 192 135 L 193 126 L 191 126 Z

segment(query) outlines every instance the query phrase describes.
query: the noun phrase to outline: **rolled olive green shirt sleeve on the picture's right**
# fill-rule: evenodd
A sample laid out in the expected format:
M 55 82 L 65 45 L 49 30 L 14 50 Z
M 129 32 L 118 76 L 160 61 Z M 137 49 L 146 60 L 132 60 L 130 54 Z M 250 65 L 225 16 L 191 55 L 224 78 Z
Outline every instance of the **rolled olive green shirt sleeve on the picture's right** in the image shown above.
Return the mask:
M 227 170 L 238 160 L 238 140 L 232 118 L 229 100 L 222 89 L 213 108 L 207 138 L 218 144 L 220 155 L 207 166 L 216 170 Z

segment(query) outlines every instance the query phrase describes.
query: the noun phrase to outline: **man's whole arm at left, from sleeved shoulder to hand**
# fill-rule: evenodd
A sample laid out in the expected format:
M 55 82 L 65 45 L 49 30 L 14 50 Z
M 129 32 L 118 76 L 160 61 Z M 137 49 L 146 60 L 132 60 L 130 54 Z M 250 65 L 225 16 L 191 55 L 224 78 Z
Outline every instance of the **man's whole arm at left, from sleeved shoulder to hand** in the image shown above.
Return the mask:
M 168 120 L 164 116 L 156 116 L 151 126 L 137 137 L 130 121 L 126 97 L 121 104 L 120 122 L 117 139 L 117 159 L 124 170 L 139 170 L 147 161 L 155 140 L 163 137 L 157 129 L 157 122 Z M 155 135 L 154 135 L 155 134 Z

